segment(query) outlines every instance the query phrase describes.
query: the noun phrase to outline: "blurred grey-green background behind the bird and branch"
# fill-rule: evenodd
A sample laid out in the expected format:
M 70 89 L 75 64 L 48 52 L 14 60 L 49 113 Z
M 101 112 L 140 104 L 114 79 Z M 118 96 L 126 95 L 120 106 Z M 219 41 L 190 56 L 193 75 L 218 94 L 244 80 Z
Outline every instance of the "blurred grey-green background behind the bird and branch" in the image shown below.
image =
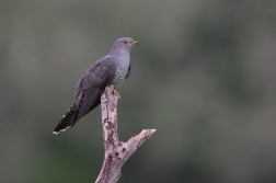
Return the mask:
M 53 135 L 83 72 L 116 38 L 122 140 L 157 133 L 119 182 L 276 182 L 276 1 L 0 1 L 0 182 L 94 182 L 101 111 Z

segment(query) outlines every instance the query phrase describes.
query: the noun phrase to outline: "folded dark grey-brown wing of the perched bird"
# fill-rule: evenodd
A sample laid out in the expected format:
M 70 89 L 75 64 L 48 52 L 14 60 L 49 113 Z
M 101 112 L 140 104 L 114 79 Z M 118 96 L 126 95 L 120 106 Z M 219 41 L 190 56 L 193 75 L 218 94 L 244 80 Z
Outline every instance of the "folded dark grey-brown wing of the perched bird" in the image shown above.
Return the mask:
M 111 82 L 115 70 L 114 58 L 105 57 L 85 71 L 76 87 L 74 103 L 78 104 L 79 113 L 71 126 L 101 103 L 101 94 Z

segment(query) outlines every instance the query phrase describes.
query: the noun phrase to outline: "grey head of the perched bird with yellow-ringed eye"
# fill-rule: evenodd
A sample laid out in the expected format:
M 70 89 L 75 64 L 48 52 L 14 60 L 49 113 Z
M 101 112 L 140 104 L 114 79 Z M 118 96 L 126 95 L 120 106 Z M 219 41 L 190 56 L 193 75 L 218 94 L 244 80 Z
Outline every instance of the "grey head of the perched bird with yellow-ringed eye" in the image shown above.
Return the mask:
M 127 52 L 127 53 L 129 53 L 134 45 L 139 45 L 139 44 L 140 44 L 139 42 L 136 42 L 130 37 L 120 37 L 114 43 L 112 52 L 115 52 L 115 53 Z

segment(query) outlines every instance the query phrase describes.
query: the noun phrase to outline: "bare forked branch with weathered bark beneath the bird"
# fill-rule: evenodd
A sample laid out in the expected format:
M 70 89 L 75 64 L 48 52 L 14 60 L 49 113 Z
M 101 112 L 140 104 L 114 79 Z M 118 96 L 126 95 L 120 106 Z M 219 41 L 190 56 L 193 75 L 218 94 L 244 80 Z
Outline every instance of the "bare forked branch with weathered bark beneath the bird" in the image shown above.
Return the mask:
M 127 141 L 120 141 L 117 134 L 117 103 L 114 87 L 106 87 L 101 96 L 104 162 L 95 183 L 116 183 L 126 160 L 156 129 L 143 129 Z

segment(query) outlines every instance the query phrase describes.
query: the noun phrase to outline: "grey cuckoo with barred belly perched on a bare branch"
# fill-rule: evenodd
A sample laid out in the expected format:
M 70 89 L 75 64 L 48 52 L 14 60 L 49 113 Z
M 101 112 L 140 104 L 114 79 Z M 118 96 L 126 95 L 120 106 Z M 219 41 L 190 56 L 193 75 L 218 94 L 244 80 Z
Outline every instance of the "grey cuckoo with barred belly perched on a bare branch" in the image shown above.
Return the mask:
M 106 56 L 97 59 L 81 77 L 76 85 L 73 104 L 62 116 L 54 129 L 54 134 L 73 127 L 76 123 L 101 104 L 101 95 L 110 84 L 114 85 L 114 93 L 120 99 L 116 87 L 130 75 L 129 54 L 134 45 L 139 42 L 131 37 L 120 37 L 113 44 Z

